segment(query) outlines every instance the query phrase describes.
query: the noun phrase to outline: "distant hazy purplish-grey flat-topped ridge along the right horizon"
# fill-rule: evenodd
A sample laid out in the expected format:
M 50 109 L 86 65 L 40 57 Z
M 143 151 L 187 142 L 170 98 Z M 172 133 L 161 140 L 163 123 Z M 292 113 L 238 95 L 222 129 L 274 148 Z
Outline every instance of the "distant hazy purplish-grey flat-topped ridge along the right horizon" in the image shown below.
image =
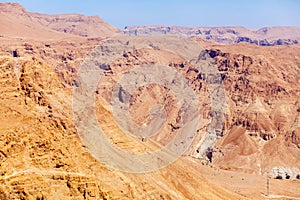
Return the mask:
M 239 26 L 228 27 L 182 27 L 182 26 L 128 26 L 123 30 L 126 35 L 180 35 L 198 37 L 222 44 L 247 42 L 260 46 L 298 44 L 300 28 L 291 26 L 264 27 L 250 30 Z

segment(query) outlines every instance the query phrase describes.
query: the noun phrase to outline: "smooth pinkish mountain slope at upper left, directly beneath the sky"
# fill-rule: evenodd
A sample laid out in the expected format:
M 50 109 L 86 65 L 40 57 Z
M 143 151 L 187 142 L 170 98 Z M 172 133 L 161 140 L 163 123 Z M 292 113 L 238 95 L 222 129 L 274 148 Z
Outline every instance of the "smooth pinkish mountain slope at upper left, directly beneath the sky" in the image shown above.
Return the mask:
M 98 16 L 32 13 L 18 3 L 0 3 L 0 35 L 4 37 L 108 37 L 119 32 Z

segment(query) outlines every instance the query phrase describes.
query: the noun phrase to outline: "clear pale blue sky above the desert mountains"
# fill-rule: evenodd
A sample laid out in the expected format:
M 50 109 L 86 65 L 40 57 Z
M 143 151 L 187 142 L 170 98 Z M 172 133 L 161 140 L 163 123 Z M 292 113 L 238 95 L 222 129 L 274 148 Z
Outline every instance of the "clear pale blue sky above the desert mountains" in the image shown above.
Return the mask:
M 8 2 L 8 1 L 2 1 Z M 300 0 L 15 0 L 31 12 L 99 15 L 108 23 L 300 27 Z

